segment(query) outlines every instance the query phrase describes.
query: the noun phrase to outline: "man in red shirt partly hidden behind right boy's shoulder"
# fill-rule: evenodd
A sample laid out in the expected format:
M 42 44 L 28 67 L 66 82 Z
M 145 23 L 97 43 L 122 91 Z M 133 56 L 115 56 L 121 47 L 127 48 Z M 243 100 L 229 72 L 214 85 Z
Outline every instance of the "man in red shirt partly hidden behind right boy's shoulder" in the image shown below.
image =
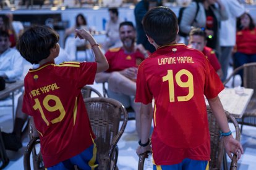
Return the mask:
M 189 47 L 202 51 L 208 61 L 211 63 L 211 66 L 216 71 L 220 79 L 223 76 L 223 71 L 221 70 L 221 65 L 216 57 L 215 52 L 210 47 L 206 46 L 207 44 L 207 35 L 205 31 L 200 28 L 193 28 L 189 32 Z

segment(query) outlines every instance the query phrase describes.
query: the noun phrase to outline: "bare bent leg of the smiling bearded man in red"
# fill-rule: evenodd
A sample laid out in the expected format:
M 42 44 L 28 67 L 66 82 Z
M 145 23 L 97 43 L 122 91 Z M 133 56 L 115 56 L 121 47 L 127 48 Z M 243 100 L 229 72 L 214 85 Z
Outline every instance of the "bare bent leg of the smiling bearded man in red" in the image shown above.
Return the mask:
M 108 79 L 108 88 L 116 93 L 136 94 L 136 83 L 118 72 L 113 72 Z

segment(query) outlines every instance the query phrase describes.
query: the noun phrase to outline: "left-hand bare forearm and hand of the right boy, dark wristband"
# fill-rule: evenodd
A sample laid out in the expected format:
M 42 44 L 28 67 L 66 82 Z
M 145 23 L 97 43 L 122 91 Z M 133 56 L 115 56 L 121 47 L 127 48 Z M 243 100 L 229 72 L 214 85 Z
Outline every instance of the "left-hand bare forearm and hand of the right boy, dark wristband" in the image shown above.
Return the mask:
M 141 141 L 141 144 L 146 144 L 148 142 L 148 139 L 150 137 L 152 118 L 153 118 L 152 103 L 148 103 L 147 105 L 144 105 L 142 103 L 142 106 L 140 108 L 140 141 Z M 142 153 L 147 152 L 148 150 L 151 151 L 150 145 L 147 145 L 146 147 L 139 146 L 137 148 L 136 152 L 138 155 L 140 155 Z

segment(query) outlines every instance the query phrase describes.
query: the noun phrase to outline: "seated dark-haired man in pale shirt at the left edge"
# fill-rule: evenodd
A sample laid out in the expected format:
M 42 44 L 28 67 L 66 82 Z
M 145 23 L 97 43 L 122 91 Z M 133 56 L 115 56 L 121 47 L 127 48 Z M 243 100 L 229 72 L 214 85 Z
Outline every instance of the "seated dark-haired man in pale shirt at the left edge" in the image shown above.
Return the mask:
M 7 82 L 22 78 L 23 59 L 16 49 L 10 47 L 9 34 L 0 31 L 0 76 Z

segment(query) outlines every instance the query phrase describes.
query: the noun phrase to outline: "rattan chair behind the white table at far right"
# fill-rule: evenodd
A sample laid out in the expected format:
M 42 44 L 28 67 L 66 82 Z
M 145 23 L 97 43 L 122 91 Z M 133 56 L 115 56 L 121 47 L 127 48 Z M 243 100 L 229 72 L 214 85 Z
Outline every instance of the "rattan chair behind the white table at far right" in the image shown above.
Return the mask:
M 250 99 L 247 108 L 244 111 L 244 115 L 241 119 L 237 119 L 237 122 L 242 125 L 256 126 L 256 63 L 247 63 L 241 67 L 236 68 L 233 73 L 224 81 L 226 85 L 231 78 L 234 78 L 239 71 L 243 71 L 243 83 L 245 88 L 254 89 L 254 94 Z

